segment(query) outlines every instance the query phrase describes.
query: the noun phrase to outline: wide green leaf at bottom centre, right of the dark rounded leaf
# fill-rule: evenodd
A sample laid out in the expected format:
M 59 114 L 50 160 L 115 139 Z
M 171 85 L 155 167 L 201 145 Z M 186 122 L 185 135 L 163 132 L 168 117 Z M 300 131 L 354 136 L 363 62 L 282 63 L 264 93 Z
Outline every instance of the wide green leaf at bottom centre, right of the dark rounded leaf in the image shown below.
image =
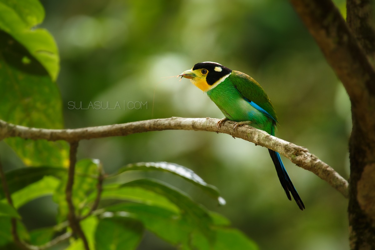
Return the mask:
M 181 249 L 199 250 L 256 250 L 257 245 L 242 232 L 229 228 L 229 221 L 217 213 L 210 213 L 213 219 L 211 230 L 216 234 L 210 245 L 207 238 L 194 225 L 186 222 L 178 213 L 165 208 L 145 204 L 121 203 L 105 208 L 111 212 L 126 212 L 130 217 L 138 219 L 146 229 L 163 240 L 179 246 Z

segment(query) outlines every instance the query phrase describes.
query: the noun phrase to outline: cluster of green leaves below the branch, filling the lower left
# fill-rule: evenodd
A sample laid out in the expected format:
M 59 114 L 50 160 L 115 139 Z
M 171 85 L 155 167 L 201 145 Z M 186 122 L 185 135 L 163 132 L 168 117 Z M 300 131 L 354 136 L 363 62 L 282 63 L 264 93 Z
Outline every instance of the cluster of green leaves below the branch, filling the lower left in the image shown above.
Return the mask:
M 104 177 L 115 178 L 104 185 L 101 198 L 102 201 L 111 199 L 111 203 L 86 216 L 97 196 L 96 185 L 101 163 L 99 160 L 80 160 L 76 165 L 72 201 L 76 209 L 75 213 L 87 217 L 81 222 L 81 226 L 90 249 L 136 249 L 145 228 L 173 246 L 178 246 L 178 249 L 220 250 L 226 249 L 227 246 L 239 250 L 258 249 L 255 243 L 238 230 L 228 228 L 230 223 L 225 217 L 209 212 L 181 190 L 149 178 L 137 180 L 116 178 L 126 177 L 128 171 L 142 171 L 142 166 L 147 168 L 155 166 L 155 171 L 173 172 L 205 191 L 216 190 L 215 187 L 208 189 L 207 184 L 200 177 L 183 166 L 165 162 L 128 165 L 118 174 Z M 175 168 L 172 169 L 171 166 Z M 44 177 L 41 179 L 42 176 Z M 55 234 L 65 231 L 68 215 L 65 200 L 66 176 L 65 168 L 55 167 L 19 168 L 7 172 L 9 192 L 12 194 L 16 208 L 33 199 L 51 194 L 58 204 L 57 225 L 38 228 L 30 234 L 20 225 L 23 229 L 21 233 L 23 240 L 41 245 L 52 240 Z M 3 191 L 1 189 L 1 192 Z M 215 194 L 218 195 L 217 191 Z M 97 216 L 100 217 L 99 220 Z M 21 219 L 5 199 L 0 202 L 0 219 L 1 217 Z M 0 227 L 0 247 L 11 243 L 12 238 L 9 234 L 10 221 L 7 220 Z M 236 239 L 235 242 L 233 237 Z M 68 249 L 84 249 L 81 239 L 72 241 Z

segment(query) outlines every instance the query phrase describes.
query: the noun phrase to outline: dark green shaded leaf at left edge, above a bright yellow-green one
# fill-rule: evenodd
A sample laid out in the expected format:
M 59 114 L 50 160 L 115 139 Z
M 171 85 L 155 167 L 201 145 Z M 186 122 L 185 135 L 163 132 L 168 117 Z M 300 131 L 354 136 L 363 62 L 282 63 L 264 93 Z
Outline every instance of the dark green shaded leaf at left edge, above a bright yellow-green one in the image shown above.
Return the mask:
M 9 192 L 12 194 L 18 190 L 35 183 L 46 175 L 54 177 L 62 177 L 66 175 L 67 169 L 65 168 L 51 168 L 51 167 L 29 167 L 11 170 L 5 173 Z M 1 183 L 1 181 L 0 181 Z M 0 185 L 0 199 L 4 199 L 3 186 Z

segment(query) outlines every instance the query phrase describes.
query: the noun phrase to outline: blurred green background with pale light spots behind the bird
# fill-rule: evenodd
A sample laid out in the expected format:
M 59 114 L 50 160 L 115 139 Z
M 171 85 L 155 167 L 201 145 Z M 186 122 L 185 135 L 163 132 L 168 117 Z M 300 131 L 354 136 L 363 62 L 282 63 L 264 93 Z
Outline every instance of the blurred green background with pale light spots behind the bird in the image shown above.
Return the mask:
M 348 96 L 287 1 L 41 2 L 46 11 L 41 27 L 52 33 L 60 50 L 57 84 L 66 128 L 171 116 L 222 118 L 187 79 L 166 78 L 195 63 L 216 61 L 262 85 L 281 124 L 276 136 L 308 148 L 348 178 Z M 345 1 L 336 4 L 345 12 Z M 102 102 L 102 109 L 84 109 L 95 101 Z M 107 102 L 115 109 L 106 109 Z M 144 105 L 136 109 L 136 102 Z M 22 164 L 4 143 L 0 147 L 8 153 L 5 161 L 10 166 Z M 283 157 L 306 206 L 300 211 L 286 198 L 266 148 L 249 142 L 209 132 L 149 132 L 82 141 L 78 158 L 84 157 L 100 159 L 107 173 L 147 161 L 193 169 L 219 188 L 227 205 L 217 207 L 207 195 L 171 175 L 148 175 L 225 215 L 261 249 L 349 249 L 347 200 Z M 57 207 L 45 197 L 20 213 L 33 229 L 54 225 Z M 139 249 L 173 248 L 146 234 Z

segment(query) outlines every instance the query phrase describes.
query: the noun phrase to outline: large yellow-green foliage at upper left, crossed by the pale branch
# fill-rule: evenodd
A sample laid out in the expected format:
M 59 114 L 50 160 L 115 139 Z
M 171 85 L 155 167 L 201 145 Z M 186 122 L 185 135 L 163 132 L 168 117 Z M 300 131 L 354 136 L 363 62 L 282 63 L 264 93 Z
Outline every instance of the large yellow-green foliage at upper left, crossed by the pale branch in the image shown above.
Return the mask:
M 56 44 L 45 29 L 34 28 L 43 21 L 38 0 L 17 4 L 0 1 L 0 119 L 29 127 L 63 127 L 57 78 L 59 58 Z M 66 143 L 6 142 L 26 165 L 60 166 L 66 161 Z

